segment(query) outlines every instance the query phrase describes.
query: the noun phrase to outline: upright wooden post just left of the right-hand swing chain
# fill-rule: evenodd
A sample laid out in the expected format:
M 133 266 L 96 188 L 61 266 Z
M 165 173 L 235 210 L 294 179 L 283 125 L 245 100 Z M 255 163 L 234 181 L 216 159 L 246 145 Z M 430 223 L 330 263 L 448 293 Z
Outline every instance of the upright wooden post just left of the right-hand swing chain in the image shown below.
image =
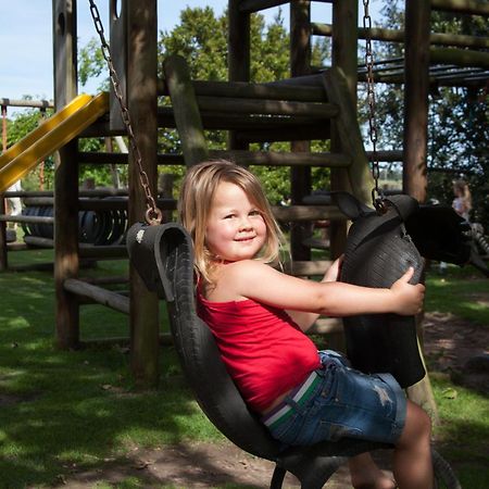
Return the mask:
M 350 99 L 353 101 L 353 118 L 356 115 L 356 64 L 359 49 L 359 7 L 356 0 L 341 0 L 333 3 L 333 60 L 331 65 L 341 68 L 347 80 Z M 331 125 L 331 151 L 341 150 L 341 138 Z M 331 190 L 352 192 L 346 170 L 331 168 Z M 347 222 L 331 222 L 329 226 L 331 258 L 339 256 L 347 242 Z

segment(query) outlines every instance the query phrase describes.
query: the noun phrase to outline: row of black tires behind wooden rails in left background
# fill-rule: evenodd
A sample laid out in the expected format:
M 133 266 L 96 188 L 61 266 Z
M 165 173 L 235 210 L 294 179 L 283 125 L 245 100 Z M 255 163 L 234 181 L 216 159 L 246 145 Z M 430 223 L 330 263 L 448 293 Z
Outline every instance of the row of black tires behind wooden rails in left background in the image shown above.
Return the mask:
M 108 200 L 122 198 L 109 197 Z M 52 205 L 28 205 L 22 211 L 23 215 L 52 217 Z M 53 225 L 42 223 L 23 223 L 25 236 L 53 239 Z M 78 239 L 80 243 L 95 246 L 122 244 L 127 230 L 126 210 L 79 211 Z

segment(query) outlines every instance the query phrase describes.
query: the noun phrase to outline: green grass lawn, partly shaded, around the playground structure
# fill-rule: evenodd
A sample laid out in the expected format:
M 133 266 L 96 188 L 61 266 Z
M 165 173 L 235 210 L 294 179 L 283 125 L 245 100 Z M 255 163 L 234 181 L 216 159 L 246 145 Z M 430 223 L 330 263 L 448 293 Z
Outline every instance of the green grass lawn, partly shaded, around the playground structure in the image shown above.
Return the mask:
M 15 252 L 9 263 L 51 258 L 51 251 Z M 127 263 L 114 261 L 82 275 L 125 273 Z M 51 273 L 2 273 L 0 290 L 0 488 L 49 487 L 68 469 L 101 466 L 135 447 L 223 439 L 192 400 L 171 347 L 161 349 L 159 389 L 137 392 L 124 346 L 54 347 Z M 486 305 L 475 297 L 485 297 Z M 428 277 L 428 311 L 488 327 L 487 301 L 489 280 L 468 271 L 450 267 L 444 277 Z M 164 329 L 164 314 L 162 323 Z M 83 339 L 128 336 L 127 317 L 98 305 L 82 309 L 80 329 Z M 447 377 L 431 381 L 442 419 L 440 451 L 456 462 L 465 489 L 489 487 L 488 399 Z M 455 400 L 447 389 L 456 389 Z M 140 486 L 136 480 L 127 487 Z

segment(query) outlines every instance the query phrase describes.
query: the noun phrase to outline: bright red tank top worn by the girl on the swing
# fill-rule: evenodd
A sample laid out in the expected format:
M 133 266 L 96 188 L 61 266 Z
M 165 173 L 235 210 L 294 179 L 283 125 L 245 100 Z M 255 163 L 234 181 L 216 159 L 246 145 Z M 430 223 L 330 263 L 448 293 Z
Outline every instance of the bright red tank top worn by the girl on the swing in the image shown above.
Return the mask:
M 251 299 L 212 302 L 197 294 L 198 314 L 248 405 L 263 412 L 321 367 L 317 349 L 283 310 Z

